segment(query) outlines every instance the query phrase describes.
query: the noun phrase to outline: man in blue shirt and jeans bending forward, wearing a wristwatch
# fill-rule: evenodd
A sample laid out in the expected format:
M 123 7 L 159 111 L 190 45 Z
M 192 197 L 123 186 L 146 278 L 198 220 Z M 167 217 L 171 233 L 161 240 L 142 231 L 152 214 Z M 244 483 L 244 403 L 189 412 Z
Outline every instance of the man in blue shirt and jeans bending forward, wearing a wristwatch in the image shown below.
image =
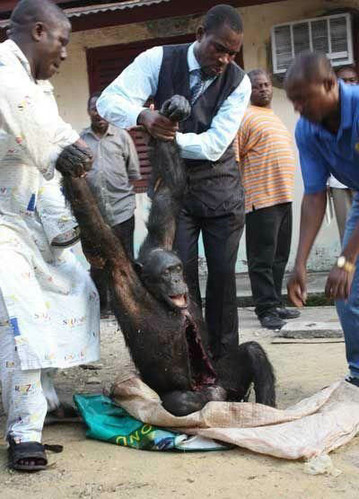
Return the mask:
M 338 81 L 329 60 L 303 53 L 289 68 L 285 90 L 301 114 L 296 140 L 304 181 L 300 237 L 288 293 L 296 306 L 306 301 L 306 262 L 326 208 L 326 185 L 332 173 L 359 190 L 359 87 Z M 342 252 L 329 273 L 325 292 L 336 299 L 350 374 L 359 386 L 359 194 L 346 223 Z

